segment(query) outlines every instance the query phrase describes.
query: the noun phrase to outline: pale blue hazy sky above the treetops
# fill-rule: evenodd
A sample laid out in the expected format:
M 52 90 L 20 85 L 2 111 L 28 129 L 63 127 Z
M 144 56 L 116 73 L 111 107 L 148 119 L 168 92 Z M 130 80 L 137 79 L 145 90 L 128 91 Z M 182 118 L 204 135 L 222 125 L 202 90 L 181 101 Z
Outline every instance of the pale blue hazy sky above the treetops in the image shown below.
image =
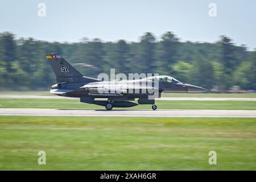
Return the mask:
M 45 3 L 46 16 L 38 16 L 39 3 Z M 216 4 L 216 16 L 209 16 L 209 3 Z M 255 0 L 1 0 L 0 6 L 0 32 L 16 38 L 139 42 L 144 32 L 160 40 L 171 31 L 182 42 L 213 43 L 226 35 L 237 46 L 256 48 Z

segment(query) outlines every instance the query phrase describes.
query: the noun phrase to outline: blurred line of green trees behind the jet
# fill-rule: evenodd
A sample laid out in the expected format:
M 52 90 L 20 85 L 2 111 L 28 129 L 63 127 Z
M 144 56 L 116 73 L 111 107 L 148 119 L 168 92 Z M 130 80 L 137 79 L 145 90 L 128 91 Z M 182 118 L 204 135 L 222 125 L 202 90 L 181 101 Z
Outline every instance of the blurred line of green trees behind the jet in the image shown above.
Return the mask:
M 182 82 L 211 89 L 256 89 L 256 50 L 236 46 L 227 36 L 216 43 L 180 42 L 172 32 L 160 40 L 146 32 L 139 42 L 102 42 L 82 38 L 79 43 L 17 39 L 11 32 L 0 33 L 0 89 L 46 90 L 56 82 L 46 53 L 59 53 L 82 74 L 159 73 Z

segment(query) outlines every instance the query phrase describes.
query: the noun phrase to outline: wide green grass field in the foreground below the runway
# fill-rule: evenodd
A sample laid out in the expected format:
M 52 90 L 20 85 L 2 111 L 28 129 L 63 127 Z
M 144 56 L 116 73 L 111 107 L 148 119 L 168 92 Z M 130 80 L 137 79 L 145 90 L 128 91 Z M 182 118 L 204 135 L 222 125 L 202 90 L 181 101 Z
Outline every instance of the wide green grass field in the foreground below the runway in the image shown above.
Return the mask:
M 255 170 L 256 119 L 1 116 L 0 169 Z

